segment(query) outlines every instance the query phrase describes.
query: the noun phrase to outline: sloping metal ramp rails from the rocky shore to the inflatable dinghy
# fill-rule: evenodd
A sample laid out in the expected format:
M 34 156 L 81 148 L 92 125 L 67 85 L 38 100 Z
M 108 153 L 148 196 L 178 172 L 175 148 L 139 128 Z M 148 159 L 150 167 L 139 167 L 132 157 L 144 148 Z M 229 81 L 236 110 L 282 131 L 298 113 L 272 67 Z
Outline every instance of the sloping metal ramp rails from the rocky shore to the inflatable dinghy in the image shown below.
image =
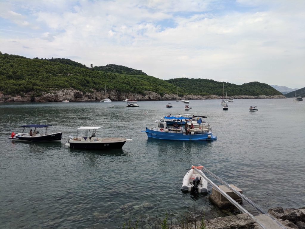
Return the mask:
M 276 220 L 274 217 L 266 213 L 263 209 L 261 209 L 257 204 L 252 202 L 249 198 L 247 198 L 245 195 L 241 194 L 239 191 L 237 191 L 234 187 L 229 185 L 227 182 L 216 176 L 214 173 L 212 173 L 210 170 L 204 168 L 202 165 L 199 165 L 197 167 L 200 167 L 200 169 L 196 168 L 196 166 L 192 165 L 192 167 L 196 170 L 197 173 L 201 174 L 217 191 L 219 191 L 225 198 L 227 198 L 235 207 L 237 207 L 242 213 L 247 213 L 249 216 L 253 218 L 262 228 L 264 229 L 287 229 L 284 225 L 282 225 L 278 220 Z M 222 189 L 220 189 L 213 181 L 211 181 L 209 178 L 206 177 L 206 175 L 201 171 L 205 171 L 206 173 L 213 176 L 216 180 L 218 180 L 220 183 L 231 189 L 236 195 L 238 195 L 240 198 L 242 198 L 244 201 L 249 203 L 251 206 L 253 206 L 257 211 L 262 213 L 262 215 L 253 216 L 251 213 L 249 213 L 245 208 L 243 208 L 239 203 L 237 203 L 234 199 L 232 199 L 228 194 L 226 194 Z

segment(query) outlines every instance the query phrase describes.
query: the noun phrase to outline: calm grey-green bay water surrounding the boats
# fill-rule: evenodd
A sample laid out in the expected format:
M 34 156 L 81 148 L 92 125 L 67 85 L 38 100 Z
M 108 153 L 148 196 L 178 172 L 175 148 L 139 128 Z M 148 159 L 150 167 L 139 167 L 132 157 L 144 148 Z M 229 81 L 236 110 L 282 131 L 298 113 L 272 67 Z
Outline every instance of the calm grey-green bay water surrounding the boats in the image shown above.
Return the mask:
M 148 139 L 145 127 L 169 114 L 185 114 L 175 101 L 0 104 L 0 225 L 2 228 L 117 228 L 142 216 L 154 227 L 156 210 L 206 218 L 225 216 L 208 199 L 181 193 L 192 164 L 202 164 L 234 184 L 264 210 L 305 206 L 305 102 L 292 99 L 191 100 L 190 111 L 208 117 L 213 142 Z M 166 108 L 171 102 L 174 107 Z M 249 112 L 250 105 L 259 111 Z M 51 123 L 60 143 L 9 141 L 20 125 Z M 84 125 L 104 126 L 104 136 L 132 136 L 122 150 L 65 149 Z M 210 188 L 211 189 L 211 188 Z

